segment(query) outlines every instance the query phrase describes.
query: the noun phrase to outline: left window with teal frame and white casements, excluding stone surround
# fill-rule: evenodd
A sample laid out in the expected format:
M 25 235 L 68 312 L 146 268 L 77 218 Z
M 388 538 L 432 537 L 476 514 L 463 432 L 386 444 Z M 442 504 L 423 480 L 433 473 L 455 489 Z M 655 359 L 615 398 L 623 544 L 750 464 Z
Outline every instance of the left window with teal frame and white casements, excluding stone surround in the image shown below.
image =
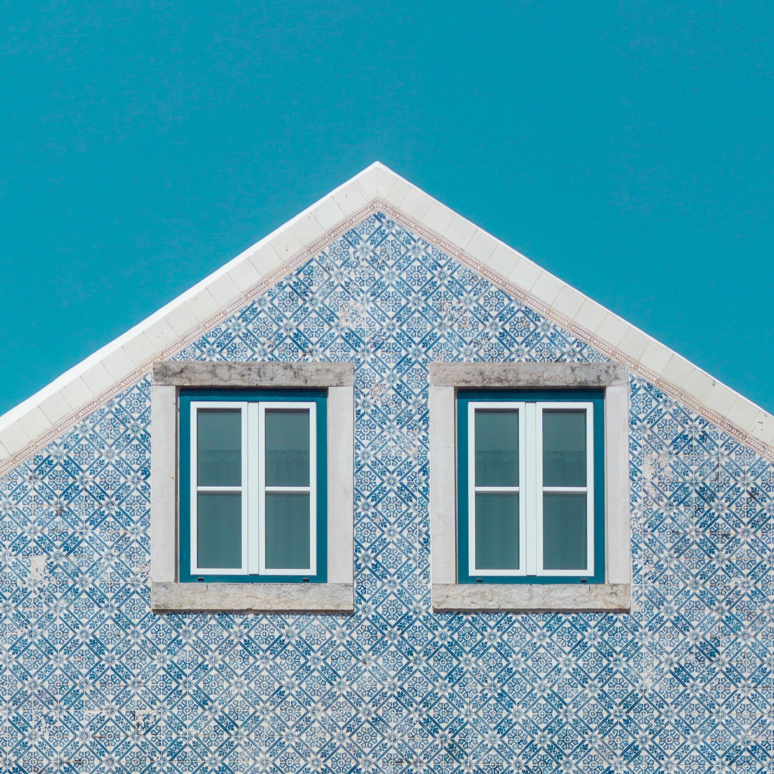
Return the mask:
M 181 391 L 180 412 L 181 582 L 324 582 L 325 392 Z

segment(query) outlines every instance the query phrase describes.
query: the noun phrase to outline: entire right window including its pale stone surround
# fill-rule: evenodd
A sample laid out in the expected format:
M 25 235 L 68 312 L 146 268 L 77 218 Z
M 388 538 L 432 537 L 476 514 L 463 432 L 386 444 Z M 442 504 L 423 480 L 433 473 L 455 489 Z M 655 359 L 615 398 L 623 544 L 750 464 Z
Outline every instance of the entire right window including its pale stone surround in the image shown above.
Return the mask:
M 433 611 L 629 611 L 628 369 L 431 363 Z

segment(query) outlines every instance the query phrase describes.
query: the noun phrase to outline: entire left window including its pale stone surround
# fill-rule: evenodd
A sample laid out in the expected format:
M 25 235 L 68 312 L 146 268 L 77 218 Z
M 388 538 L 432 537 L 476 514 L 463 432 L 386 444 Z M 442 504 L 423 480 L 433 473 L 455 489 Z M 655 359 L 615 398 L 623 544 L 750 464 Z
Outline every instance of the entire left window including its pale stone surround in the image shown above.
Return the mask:
M 354 366 L 159 361 L 151 608 L 354 611 Z

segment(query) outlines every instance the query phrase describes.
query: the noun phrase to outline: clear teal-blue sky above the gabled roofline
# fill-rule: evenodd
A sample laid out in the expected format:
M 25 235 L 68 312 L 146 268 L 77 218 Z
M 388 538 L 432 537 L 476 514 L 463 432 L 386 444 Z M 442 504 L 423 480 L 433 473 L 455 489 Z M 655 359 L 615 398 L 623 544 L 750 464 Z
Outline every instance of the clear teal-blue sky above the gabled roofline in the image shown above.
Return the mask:
M 0 413 L 376 159 L 774 411 L 771 3 L 36 6 Z

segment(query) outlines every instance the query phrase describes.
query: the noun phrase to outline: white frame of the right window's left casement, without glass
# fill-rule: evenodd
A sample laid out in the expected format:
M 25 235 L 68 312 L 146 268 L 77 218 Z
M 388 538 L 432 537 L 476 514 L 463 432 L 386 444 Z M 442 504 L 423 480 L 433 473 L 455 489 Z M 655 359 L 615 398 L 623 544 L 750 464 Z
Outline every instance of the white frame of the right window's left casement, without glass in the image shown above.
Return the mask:
M 471 575 L 498 577 L 502 575 L 520 576 L 526 574 L 527 561 L 527 516 L 526 497 L 526 403 L 519 401 L 471 401 L 467 404 L 467 562 Z M 519 486 L 517 487 L 480 487 L 476 486 L 475 457 L 475 416 L 476 409 L 515 409 L 519 412 Z M 478 492 L 518 492 L 519 493 L 519 570 L 478 570 L 476 567 L 476 494 Z

